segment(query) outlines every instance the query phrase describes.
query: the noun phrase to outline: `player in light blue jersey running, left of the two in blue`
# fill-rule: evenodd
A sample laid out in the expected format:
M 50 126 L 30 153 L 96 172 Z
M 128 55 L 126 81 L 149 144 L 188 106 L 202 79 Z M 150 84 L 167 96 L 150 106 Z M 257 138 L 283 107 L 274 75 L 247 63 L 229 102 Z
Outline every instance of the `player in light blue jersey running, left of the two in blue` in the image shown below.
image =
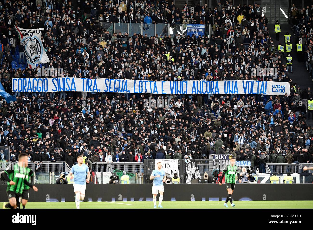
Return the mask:
M 80 201 L 85 198 L 86 182 L 89 183 L 90 171 L 87 165 L 83 164 L 83 156 L 77 157 L 78 164 L 73 165 L 69 177 L 73 179 L 74 176 L 74 192 L 76 208 L 80 208 Z M 87 179 L 86 179 L 87 174 Z

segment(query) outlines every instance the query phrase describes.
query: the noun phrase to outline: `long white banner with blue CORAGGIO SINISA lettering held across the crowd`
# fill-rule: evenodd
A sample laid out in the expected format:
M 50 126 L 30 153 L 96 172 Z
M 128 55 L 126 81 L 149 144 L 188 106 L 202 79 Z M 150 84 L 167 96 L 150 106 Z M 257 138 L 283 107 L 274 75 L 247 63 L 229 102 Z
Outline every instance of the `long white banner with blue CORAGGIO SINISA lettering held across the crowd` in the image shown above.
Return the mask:
M 274 81 L 148 81 L 88 78 L 13 78 L 13 92 L 102 92 L 149 94 L 285 95 L 288 82 Z

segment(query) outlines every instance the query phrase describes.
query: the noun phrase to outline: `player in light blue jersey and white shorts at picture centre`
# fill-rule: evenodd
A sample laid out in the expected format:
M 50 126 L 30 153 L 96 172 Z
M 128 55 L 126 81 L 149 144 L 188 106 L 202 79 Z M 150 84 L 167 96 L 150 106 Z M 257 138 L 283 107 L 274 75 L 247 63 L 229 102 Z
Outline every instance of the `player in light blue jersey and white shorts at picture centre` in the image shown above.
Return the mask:
M 165 172 L 162 169 L 162 163 L 158 162 L 157 163 L 157 169 L 153 170 L 150 176 L 150 180 L 153 180 L 153 185 L 152 185 L 152 194 L 153 194 L 153 204 L 154 207 L 156 208 L 156 195 L 160 193 L 159 197 L 159 208 L 162 208 L 162 200 L 163 200 L 163 192 L 164 192 L 164 186 L 163 182 L 166 180 Z

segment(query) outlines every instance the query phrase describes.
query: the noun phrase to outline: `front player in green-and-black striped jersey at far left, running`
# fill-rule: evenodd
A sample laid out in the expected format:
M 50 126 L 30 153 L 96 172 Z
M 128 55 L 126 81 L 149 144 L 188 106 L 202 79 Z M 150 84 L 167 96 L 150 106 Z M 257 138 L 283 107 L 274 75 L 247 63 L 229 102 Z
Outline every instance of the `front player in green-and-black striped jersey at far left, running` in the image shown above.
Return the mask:
M 23 194 L 25 185 L 32 187 L 35 192 L 37 187 L 28 182 L 29 170 L 28 156 L 25 153 L 18 155 L 18 163 L 13 165 L 13 170 L 7 168 L 4 173 L 4 179 L 8 182 L 7 195 L 9 198 L 8 204 L 3 204 L 4 208 L 19 208 L 20 199 Z

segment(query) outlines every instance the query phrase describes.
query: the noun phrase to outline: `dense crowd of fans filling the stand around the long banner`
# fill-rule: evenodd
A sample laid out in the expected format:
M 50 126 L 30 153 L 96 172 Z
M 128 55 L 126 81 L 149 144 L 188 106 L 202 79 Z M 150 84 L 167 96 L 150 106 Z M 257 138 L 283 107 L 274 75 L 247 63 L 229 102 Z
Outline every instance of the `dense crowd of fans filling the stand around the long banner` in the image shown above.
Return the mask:
M 106 22 L 201 23 L 210 24 L 213 33 L 173 38 L 110 34 L 103 27 Z M 178 9 L 167 0 L 0 3 L 1 83 L 11 94 L 12 78 L 39 77 L 38 69 L 11 68 L 16 47 L 24 61 L 14 24 L 44 28 L 42 41 L 51 60 L 45 67 L 62 68 L 62 76 L 249 79 L 291 86 L 285 96 L 15 93 L 16 102 L 1 101 L 0 144 L 10 146 L 11 160 L 26 152 L 29 161 L 66 161 L 70 166 L 81 154 L 90 162 L 232 154 L 250 160 L 260 172 L 269 162 L 309 163 L 313 131 L 304 115 L 312 90 L 300 89 L 289 79 L 284 53 L 274 46 L 267 23 L 258 4 L 235 7 L 231 1 L 214 8 L 199 3 L 194 12 L 187 4 Z M 264 67 L 277 73 L 252 74 L 254 68 Z M 149 97 L 167 104 L 146 106 Z

